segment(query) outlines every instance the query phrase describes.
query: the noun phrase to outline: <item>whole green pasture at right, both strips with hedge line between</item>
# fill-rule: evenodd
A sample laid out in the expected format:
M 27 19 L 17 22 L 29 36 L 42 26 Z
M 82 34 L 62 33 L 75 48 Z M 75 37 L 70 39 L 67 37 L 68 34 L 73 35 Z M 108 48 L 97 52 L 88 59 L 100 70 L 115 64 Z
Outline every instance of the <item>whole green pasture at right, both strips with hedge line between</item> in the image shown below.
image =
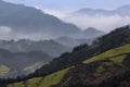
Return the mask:
M 123 61 L 123 58 L 127 53 L 130 53 L 130 44 L 125 45 L 122 47 L 116 48 L 108 50 L 106 52 L 103 52 L 96 57 L 93 57 L 91 59 L 84 60 L 83 63 L 88 64 L 98 60 L 105 60 L 105 59 L 110 59 L 115 62 L 121 62 Z

